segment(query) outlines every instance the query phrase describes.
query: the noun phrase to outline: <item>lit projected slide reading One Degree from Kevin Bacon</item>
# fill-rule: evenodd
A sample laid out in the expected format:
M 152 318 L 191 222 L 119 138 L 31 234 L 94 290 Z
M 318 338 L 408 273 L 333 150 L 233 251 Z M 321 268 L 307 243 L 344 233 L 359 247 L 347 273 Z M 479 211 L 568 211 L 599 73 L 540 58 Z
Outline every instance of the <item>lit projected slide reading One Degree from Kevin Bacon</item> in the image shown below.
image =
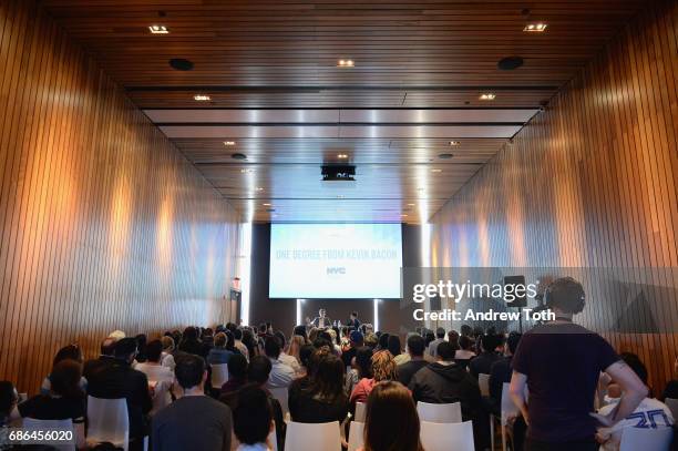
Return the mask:
M 400 224 L 271 224 L 271 298 L 400 298 Z

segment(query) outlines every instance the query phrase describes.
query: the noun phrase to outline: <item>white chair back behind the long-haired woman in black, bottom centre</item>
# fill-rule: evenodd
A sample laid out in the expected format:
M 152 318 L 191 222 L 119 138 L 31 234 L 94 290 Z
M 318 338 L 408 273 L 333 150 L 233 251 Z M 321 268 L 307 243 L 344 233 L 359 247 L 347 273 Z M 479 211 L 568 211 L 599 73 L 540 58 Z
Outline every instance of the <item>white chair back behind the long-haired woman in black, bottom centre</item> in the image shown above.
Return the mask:
M 341 451 L 339 421 L 330 423 L 287 423 L 285 451 Z

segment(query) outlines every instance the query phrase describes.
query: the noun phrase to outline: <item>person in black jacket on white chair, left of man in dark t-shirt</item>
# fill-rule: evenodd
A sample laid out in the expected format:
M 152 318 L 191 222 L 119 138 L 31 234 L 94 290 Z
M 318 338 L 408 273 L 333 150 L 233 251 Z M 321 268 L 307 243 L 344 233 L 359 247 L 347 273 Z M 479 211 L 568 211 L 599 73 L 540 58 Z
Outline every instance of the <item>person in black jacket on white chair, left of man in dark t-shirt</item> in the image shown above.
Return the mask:
M 94 398 L 127 400 L 131 448 L 141 447 L 146 434 L 146 413 L 153 408 L 146 375 L 132 368 L 136 340 L 123 338 L 115 344 L 113 358 L 102 356 L 84 366 L 88 394 Z

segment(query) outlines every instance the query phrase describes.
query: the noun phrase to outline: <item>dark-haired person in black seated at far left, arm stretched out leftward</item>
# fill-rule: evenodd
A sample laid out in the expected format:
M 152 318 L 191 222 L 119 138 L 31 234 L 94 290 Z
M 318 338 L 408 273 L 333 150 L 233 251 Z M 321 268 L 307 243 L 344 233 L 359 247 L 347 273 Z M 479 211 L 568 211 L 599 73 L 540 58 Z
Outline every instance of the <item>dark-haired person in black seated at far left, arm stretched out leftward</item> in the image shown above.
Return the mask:
M 85 447 L 85 396 L 80 387 L 81 363 L 65 359 L 58 362 L 50 373 L 49 394 L 38 394 L 18 404 L 11 420 L 32 418 L 35 420 L 73 420 L 75 442 Z

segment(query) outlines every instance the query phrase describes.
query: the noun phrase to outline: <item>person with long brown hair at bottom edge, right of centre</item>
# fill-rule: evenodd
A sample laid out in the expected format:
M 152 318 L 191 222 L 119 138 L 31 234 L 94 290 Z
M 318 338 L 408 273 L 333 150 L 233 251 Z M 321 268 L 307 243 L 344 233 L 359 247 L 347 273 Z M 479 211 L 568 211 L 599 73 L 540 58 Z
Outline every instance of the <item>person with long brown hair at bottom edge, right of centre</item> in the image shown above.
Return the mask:
M 380 382 L 367 401 L 361 451 L 423 451 L 412 396 L 399 382 Z

